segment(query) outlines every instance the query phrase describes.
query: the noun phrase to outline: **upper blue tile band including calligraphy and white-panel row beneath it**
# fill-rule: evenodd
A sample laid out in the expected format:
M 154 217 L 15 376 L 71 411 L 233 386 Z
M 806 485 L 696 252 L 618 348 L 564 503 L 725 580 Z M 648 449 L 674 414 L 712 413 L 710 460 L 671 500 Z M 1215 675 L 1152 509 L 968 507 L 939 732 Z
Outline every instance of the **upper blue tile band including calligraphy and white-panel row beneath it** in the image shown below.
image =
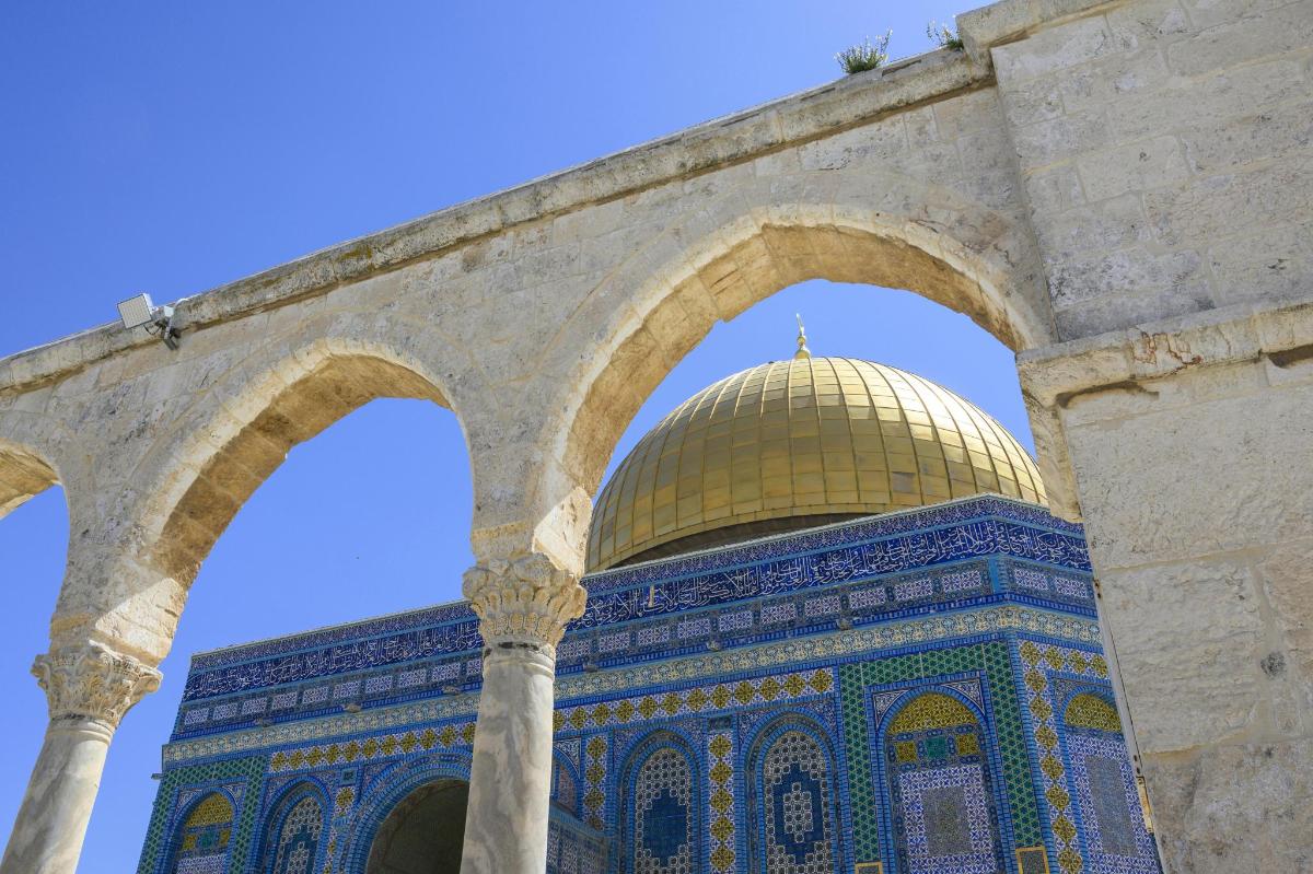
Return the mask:
M 1094 615 L 1079 529 L 977 497 L 586 580 L 558 673 L 760 644 L 1006 597 Z M 823 587 L 823 588 L 819 588 Z M 819 591 L 818 591 L 819 588 Z M 477 689 L 462 604 L 198 655 L 175 739 Z

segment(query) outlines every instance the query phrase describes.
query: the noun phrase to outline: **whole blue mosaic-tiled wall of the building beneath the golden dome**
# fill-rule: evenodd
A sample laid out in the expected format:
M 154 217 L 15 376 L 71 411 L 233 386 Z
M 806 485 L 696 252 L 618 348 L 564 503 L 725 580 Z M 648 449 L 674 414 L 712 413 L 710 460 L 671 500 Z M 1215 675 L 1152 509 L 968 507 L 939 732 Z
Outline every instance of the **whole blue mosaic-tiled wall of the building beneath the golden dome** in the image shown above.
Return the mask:
M 1124 861 L 1154 864 L 1127 856 L 1152 837 L 1127 832 L 1119 727 L 1062 685 L 1107 685 L 1077 529 L 976 499 L 590 587 L 592 625 L 561 647 L 553 874 L 1157 870 Z M 221 783 L 247 799 L 228 870 L 360 874 L 393 804 L 467 777 L 482 665 L 462 610 L 198 657 L 142 874 L 168 861 L 181 793 Z M 280 799 L 311 783 L 327 820 L 289 832 Z

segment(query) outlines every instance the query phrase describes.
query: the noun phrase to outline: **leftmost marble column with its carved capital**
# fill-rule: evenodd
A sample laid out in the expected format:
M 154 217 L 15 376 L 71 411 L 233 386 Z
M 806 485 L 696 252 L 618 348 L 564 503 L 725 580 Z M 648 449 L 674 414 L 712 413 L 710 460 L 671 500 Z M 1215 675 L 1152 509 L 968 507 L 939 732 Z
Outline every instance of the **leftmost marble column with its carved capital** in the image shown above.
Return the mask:
M 101 643 L 60 648 L 32 665 L 50 724 L 0 861 L 0 874 L 74 874 L 105 755 L 129 707 L 160 673 Z

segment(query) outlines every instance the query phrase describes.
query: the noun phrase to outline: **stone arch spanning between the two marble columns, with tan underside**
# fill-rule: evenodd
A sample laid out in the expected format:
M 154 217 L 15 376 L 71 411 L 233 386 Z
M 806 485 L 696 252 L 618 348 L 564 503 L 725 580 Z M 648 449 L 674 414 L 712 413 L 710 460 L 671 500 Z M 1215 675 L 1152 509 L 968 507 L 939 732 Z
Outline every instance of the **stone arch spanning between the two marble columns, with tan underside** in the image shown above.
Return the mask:
M 142 453 L 129 482 L 143 486 L 127 500 L 140 497 L 121 509 L 130 525 L 109 545 L 109 567 L 93 568 L 98 580 L 66 580 L 56 634 L 81 636 L 89 627 L 91 636 L 158 661 L 202 560 L 294 446 L 378 398 L 457 412 L 424 361 L 389 343 L 323 331 L 302 325 L 303 341 L 270 344 L 227 371 Z M 460 413 L 457 421 L 469 449 Z

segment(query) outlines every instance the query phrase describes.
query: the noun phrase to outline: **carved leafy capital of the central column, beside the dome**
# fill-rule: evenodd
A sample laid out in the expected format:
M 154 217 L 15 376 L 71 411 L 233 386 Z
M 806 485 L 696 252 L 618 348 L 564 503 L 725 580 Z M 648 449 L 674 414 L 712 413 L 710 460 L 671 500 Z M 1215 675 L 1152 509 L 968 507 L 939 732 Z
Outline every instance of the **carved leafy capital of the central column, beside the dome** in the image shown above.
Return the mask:
M 566 623 L 583 615 L 588 597 L 572 573 L 541 552 L 475 564 L 465 572 L 462 591 L 488 646 L 517 642 L 555 648 Z

